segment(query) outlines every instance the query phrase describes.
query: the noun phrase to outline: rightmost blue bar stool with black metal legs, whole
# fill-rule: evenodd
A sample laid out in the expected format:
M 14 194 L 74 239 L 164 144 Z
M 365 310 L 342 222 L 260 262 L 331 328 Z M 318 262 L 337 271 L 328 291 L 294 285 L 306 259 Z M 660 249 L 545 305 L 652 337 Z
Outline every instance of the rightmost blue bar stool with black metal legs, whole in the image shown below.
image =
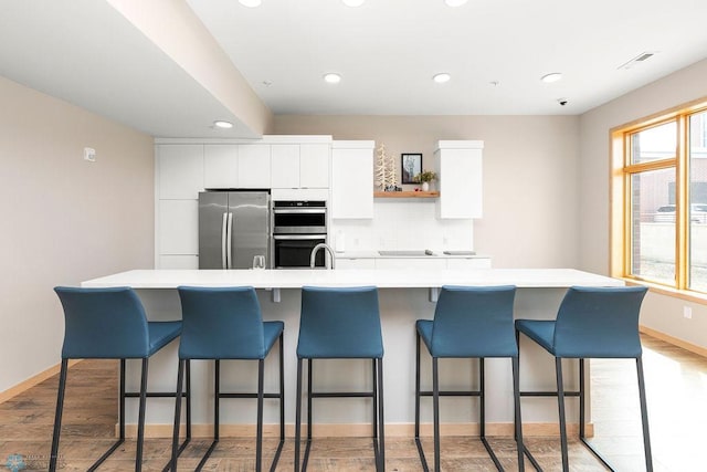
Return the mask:
M 648 415 L 643 379 L 641 338 L 639 336 L 639 313 L 647 289 L 632 287 L 580 287 L 567 291 L 556 321 L 516 321 L 516 343 L 520 333 L 525 334 L 555 356 L 557 391 L 523 391 L 524 397 L 557 396 L 560 416 L 560 442 L 562 470 L 569 471 L 567 451 L 567 422 L 564 397 L 579 397 L 579 437 L 582 443 L 606 468 L 614 470 L 604 458 L 587 441 L 584 428 L 584 359 L 621 358 L 635 359 L 639 374 L 639 397 L 643 424 L 643 445 L 646 470 L 653 470 Z M 562 385 L 562 359 L 579 359 L 579 391 L 564 391 Z M 528 458 L 540 470 L 529 451 Z

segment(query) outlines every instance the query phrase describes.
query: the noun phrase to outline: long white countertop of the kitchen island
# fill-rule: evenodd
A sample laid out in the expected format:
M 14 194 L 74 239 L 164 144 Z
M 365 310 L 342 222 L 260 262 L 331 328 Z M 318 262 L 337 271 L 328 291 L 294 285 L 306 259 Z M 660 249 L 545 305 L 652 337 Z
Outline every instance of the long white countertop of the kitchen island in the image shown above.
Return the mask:
M 573 269 L 475 270 L 135 270 L 82 283 L 84 287 L 175 289 L 179 285 L 302 289 L 374 285 L 379 289 L 429 289 L 442 285 L 516 285 L 518 287 L 621 286 L 616 279 Z

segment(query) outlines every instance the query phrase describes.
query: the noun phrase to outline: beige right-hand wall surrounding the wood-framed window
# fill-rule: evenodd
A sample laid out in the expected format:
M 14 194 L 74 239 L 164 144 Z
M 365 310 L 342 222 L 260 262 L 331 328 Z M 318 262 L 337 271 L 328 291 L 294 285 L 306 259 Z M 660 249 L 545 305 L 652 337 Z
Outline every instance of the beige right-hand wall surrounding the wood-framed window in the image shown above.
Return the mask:
M 707 60 L 599 106 L 580 117 L 580 268 L 609 274 L 609 130 L 707 96 Z M 693 318 L 683 306 L 693 306 Z M 652 293 L 641 323 L 707 347 L 707 306 Z

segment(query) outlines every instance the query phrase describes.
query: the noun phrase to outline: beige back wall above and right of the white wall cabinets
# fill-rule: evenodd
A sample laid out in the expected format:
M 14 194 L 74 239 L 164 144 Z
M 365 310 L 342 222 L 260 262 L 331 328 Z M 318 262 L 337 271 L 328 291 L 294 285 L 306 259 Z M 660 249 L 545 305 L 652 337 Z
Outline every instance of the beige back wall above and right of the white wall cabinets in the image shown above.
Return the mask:
M 484 141 L 484 218 L 474 247 L 495 268 L 579 263 L 578 141 L 572 116 L 275 116 L 275 134 L 374 139 L 394 156 L 423 153 L 432 168 L 440 139 Z

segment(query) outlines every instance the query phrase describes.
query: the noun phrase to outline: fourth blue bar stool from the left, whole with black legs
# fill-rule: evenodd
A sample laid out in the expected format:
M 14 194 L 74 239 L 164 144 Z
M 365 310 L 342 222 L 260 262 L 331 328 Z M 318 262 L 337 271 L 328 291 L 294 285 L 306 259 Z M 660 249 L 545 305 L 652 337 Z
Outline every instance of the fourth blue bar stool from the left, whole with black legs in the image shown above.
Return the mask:
M 513 365 L 516 441 L 518 470 L 524 469 L 520 397 L 518 395 L 518 347 L 514 337 L 513 304 L 516 287 L 443 286 L 434 319 L 418 319 L 415 361 L 415 443 L 422 468 L 428 461 L 420 441 L 420 397 L 433 398 L 434 470 L 440 471 L 440 397 L 478 397 L 481 440 L 499 471 L 503 466 L 486 440 L 484 358 L 509 357 Z M 420 340 L 432 356 L 432 391 L 420 389 Z M 440 390 L 437 364 L 440 358 L 478 358 L 478 390 Z

